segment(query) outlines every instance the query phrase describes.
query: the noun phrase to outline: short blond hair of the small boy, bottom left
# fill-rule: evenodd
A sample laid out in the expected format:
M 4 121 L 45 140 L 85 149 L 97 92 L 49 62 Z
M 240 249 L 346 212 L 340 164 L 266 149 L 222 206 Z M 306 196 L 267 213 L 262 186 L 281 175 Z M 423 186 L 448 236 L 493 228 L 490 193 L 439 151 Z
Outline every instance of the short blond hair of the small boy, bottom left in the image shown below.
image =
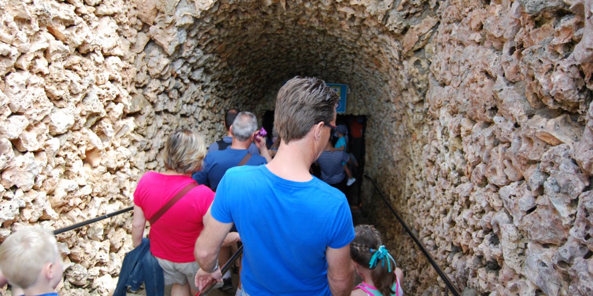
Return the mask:
M 0 269 L 10 284 L 27 289 L 35 284 L 43 266 L 56 262 L 58 256 L 52 231 L 24 227 L 0 245 Z

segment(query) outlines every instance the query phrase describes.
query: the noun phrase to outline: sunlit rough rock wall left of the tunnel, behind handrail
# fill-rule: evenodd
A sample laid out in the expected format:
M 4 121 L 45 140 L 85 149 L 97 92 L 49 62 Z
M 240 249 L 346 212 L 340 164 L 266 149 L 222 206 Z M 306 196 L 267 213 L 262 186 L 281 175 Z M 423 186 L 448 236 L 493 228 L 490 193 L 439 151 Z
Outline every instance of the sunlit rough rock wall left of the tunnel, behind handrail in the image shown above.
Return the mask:
M 0 1 L 0 241 L 23 226 L 59 229 L 132 205 L 177 127 L 221 135 L 213 118 L 222 104 L 201 89 L 203 67 L 182 67 L 165 52 L 174 44 L 158 45 L 170 43 L 154 27 L 167 5 Z M 127 213 L 60 234 L 60 295 L 113 289 L 130 229 Z

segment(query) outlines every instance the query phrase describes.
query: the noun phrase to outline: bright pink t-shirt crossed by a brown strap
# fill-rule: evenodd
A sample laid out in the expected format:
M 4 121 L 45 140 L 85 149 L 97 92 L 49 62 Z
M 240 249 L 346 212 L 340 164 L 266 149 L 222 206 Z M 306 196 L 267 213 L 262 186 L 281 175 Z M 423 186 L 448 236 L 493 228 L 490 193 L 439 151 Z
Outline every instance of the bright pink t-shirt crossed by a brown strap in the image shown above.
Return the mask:
M 177 192 L 194 181 L 190 176 L 147 172 L 134 191 L 134 204 L 142 208 L 146 221 L 156 214 Z M 214 192 L 204 185 L 177 201 L 151 225 L 150 250 L 155 257 L 185 263 L 196 259 L 193 248 L 202 232 L 202 217 L 214 200 Z

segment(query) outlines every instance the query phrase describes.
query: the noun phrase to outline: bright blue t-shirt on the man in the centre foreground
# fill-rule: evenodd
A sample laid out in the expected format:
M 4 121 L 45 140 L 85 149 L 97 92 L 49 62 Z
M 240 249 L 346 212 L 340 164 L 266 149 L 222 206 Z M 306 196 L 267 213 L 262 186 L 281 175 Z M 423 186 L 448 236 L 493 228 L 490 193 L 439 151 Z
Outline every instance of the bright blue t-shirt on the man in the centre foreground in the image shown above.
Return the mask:
M 229 169 L 211 214 L 237 226 L 244 247 L 241 282 L 250 295 L 331 295 L 326 248 L 354 239 L 342 192 L 315 177 L 282 179 L 266 166 Z

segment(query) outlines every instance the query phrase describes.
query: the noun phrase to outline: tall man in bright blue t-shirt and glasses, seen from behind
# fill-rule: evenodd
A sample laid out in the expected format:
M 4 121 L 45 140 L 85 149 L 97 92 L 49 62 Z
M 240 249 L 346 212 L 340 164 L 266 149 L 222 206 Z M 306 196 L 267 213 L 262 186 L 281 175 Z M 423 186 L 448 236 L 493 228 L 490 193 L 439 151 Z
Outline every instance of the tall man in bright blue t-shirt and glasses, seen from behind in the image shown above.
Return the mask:
M 335 128 L 338 100 L 318 78 L 295 77 L 282 86 L 278 153 L 267 165 L 229 169 L 219 183 L 196 242 L 198 287 L 221 278 L 216 256 L 235 225 L 244 247 L 240 295 L 350 295 L 348 202 L 309 173 Z

